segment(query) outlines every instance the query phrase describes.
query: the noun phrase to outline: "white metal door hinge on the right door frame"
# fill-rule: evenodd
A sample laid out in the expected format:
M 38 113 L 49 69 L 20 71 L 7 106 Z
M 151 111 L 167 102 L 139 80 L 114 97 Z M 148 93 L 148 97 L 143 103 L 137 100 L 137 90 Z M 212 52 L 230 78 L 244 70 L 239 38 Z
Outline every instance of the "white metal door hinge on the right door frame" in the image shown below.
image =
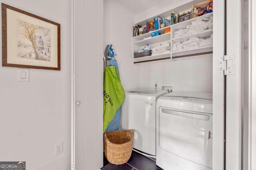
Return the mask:
M 224 71 L 224 75 L 234 75 L 235 72 L 235 55 L 224 55 L 224 61 L 218 62 L 218 69 Z

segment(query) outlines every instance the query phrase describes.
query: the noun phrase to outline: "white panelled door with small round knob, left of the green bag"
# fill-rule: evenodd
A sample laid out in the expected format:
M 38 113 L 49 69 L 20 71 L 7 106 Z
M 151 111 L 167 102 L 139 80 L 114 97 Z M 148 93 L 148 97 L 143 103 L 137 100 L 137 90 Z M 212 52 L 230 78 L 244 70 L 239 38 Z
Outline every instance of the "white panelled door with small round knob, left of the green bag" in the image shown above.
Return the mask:
M 72 162 L 103 166 L 103 0 L 73 0 Z

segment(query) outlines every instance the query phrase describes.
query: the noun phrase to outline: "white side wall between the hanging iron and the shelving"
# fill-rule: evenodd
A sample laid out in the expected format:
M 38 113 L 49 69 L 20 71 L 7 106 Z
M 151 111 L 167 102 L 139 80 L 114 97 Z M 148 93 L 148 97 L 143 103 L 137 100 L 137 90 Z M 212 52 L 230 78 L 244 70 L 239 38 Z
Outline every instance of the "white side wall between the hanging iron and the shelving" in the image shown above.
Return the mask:
M 120 60 L 120 79 L 125 91 L 139 88 L 139 66 L 132 64 L 134 15 L 118 0 L 104 0 L 104 47 L 112 43 Z M 104 51 L 104 49 L 103 49 Z

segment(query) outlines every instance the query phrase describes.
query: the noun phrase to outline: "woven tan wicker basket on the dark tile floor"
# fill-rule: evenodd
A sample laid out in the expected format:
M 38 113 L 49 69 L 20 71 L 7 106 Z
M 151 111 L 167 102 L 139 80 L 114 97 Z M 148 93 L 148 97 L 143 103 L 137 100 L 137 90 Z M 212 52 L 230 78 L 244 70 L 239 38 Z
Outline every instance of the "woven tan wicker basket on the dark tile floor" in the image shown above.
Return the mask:
M 126 163 L 132 154 L 134 131 L 110 131 L 104 134 L 104 151 L 108 161 L 120 165 Z

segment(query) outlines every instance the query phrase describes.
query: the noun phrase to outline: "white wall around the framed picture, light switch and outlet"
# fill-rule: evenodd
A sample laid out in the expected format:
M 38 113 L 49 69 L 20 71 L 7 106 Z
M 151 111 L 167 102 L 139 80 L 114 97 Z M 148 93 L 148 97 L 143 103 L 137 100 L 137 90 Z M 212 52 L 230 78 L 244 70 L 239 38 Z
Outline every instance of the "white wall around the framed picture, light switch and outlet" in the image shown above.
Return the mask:
M 26 161 L 27 170 L 70 170 L 71 1 L 0 2 L 61 25 L 61 71 L 30 69 L 30 82 L 18 82 L 17 68 L 0 66 L 0 161 Z M 63 153 L 55 156 L 61 142 Z

